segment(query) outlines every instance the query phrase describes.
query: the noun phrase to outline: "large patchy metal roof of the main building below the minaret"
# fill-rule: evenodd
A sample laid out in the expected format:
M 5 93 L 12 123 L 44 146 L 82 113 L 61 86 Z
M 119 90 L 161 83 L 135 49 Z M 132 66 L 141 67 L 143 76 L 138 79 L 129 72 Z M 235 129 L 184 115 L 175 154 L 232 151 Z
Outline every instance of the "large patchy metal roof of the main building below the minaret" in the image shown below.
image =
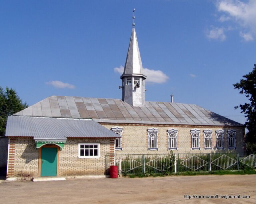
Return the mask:
M 96 122 L 243 126 L 195 104 L 146 102 L 134 107 L 120 99 L 50 96 L 14 114 L 92 118 Z

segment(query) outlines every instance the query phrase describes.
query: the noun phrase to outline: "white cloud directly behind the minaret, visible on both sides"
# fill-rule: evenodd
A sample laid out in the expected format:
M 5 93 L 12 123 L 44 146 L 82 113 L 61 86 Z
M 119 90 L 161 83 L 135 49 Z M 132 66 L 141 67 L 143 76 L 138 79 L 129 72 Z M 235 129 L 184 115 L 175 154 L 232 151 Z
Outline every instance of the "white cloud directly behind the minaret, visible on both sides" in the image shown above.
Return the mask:
M 123 66 L 115 67 L 114 71 L 116 73 L 123 74 L 124 67 Z M 147 76 L 146 82 L 161 84 L 166 82 L 169 79 L 169 77 L 161 70 L 143 68 L 143 71 L 144 71 L 144 75 Z

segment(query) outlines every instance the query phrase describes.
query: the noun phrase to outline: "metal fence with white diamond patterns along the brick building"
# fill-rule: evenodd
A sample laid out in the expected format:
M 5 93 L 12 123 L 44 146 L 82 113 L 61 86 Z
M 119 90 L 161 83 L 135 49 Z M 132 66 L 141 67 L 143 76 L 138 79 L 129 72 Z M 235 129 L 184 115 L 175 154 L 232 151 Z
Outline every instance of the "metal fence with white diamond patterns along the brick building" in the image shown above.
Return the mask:
M 111 165 L 118 166 L 119 174 L 239 170 L 256 168 L 256 154 L 107 154 L 106 173 Z

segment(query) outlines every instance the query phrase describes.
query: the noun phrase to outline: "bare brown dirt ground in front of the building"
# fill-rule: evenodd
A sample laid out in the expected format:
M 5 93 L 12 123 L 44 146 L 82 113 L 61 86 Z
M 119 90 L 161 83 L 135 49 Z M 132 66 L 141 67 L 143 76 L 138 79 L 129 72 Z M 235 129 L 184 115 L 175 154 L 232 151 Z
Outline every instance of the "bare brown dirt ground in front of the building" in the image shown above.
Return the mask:
M 196 195 L 197 198 L 189 199 Z M 198 198 L 198 196 L 250 198 Z M 0 203 L 256 203 L 256 175 L 4 181 Z M 185 196 L 184 196 L 185 195 Z M 187 196 L 188 195 L 188 196 Z M 187 197 L 186 197 L 187 196 Z

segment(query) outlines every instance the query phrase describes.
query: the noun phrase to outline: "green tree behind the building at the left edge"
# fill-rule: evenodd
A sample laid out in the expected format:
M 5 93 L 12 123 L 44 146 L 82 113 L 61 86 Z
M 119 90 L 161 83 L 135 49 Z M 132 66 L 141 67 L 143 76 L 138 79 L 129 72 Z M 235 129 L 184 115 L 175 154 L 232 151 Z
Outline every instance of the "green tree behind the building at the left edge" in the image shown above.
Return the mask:
M 14 89 L 6 87 L 6 91 L 0 86 L 0 136 L 5 134 L 7 116 L 27 108 Z

